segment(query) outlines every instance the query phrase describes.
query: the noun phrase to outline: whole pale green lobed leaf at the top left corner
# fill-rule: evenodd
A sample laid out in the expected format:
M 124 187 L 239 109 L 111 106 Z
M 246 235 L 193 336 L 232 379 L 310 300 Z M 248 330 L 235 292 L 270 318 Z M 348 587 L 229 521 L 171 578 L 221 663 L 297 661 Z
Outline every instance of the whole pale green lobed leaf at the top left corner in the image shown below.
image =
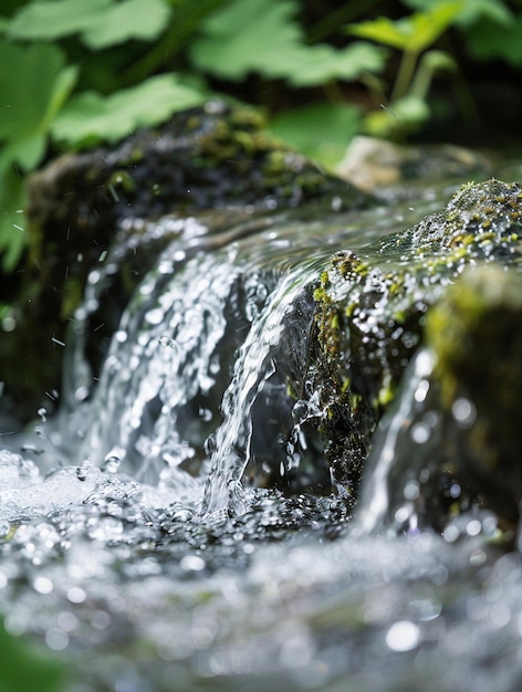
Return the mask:
M 165 0 L 40 0 L 22 8 L 8 32 L 15 39 L 48 41 L 80 33 L 96 50 L 129 39 L 155 39 L 169 17 Z

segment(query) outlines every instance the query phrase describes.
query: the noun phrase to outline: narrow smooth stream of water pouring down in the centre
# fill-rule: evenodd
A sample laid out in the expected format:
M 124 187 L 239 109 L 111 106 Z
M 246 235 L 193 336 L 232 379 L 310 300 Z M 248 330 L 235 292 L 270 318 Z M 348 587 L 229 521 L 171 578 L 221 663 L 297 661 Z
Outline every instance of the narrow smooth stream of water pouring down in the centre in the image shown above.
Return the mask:
M 225 420 L 212 440 L 213 453 L 202 501 L 203 516 L 219 517 L 227 510 L 237 513 L 243 510 L 240 481 L 249 462 L 254 460 L 253 410 L 260 401 L 261 410 L 255 416 L 257 424 L 261 426 L 261 430 L 255 430 L 258 445 L 264 448 L 263 451 L 271 458 L 272 464 L 278 463 L 278 457 L 284 457 L 284 451 L 281 451 L 284 444 L 284 438 L 281 437 L 283 421 L 278 418 L 278 412 L 289 419 L 291 403 L 284 379 L 280 376 L 278 365 L 281 364 L 278 360 L 281 359 L 284 331 L 295 327 L 295 323 L 289 324 L 286 318 L 311 275 L 313 273 L 310 266 L 304 264 L 294 268 L 280 280 L 240 349 L 232 380 L 223 397 Z M 301 317 L 302 323 L 297 328 L 307 333 L 311 315 L 303 311 L 292 317 L 294 321 Z M 302 350 L 301 354 L 293 354 L 293 357 L 304 358 L 305 353 Z M 272 387 L 271 379 L 274 380 Z M 274 389 L 278 392 L 275 396 Z M 276 449 L 278 444 L 280 450 Z M 284 473 L 284 461 L 281 463 Z

